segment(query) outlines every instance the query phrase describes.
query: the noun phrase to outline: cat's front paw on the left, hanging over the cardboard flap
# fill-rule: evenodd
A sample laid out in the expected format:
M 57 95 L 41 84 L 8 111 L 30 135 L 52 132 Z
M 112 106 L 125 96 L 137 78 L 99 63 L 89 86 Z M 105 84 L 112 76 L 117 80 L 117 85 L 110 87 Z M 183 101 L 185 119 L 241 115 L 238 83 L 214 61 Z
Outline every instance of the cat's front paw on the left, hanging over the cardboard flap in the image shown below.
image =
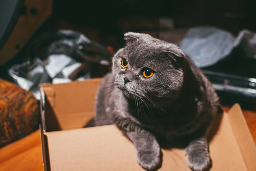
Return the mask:
M 145 170 L 152 171 L 160 164 L 160 151 L 140 151 L 137 160 Z

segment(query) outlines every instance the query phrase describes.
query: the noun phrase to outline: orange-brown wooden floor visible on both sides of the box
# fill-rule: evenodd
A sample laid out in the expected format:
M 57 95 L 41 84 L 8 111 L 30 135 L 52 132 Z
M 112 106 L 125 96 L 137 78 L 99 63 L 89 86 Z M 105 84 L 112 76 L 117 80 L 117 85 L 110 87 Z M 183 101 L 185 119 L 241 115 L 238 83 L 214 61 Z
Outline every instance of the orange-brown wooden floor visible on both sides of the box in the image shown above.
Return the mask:
M 223 107 L 225 111 L 228 107 Z M 243 111 L 256 143 L 256 113 Z M 43 171 L 39 130 L 0 148 L 0 171 Z

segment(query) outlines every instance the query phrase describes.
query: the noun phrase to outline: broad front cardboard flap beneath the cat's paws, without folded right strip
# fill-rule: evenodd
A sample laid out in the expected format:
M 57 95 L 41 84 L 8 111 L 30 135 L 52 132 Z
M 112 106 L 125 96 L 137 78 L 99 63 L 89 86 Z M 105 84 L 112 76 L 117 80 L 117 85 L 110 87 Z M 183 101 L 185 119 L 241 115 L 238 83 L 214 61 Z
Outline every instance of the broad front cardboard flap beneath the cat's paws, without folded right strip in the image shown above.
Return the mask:
M 216 117 L 211 133 L 215 136 L 209 136 L 210 171 L 248 171 L 226 113 Z M 134 145 L 115 125 L 45 134 L 52 171 L 144 171 L 137 163 Z M 191 171 L 183 149 L 162 151 L 159 171 Z

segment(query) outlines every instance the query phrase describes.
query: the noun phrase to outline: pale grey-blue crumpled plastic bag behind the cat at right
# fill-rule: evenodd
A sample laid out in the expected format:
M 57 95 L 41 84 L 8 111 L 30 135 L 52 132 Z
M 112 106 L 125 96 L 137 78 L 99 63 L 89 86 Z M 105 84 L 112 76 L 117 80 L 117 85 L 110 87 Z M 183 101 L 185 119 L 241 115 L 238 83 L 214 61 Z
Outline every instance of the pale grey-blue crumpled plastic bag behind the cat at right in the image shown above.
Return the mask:
M 237 37 L 215 27 L 191 28 L 180 43 L 180 48 L 198 67 L 208 67 L 230 55 L 241 46 L 247 57 L 256 58 L 256 34 L 242 30 Z

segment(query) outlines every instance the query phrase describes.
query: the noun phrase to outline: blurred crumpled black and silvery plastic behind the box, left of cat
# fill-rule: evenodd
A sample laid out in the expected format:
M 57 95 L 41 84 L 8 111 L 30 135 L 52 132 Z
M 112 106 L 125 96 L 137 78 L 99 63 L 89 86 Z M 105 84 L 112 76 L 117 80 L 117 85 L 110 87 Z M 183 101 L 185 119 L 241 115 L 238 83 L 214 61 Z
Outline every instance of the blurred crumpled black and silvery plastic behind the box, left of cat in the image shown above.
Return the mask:
M 32 41 L 27 59 L 11 67 L 13 81 L 40 99 L 39 84 L 82 81 L 109 71 L 113 50 L 79 32 L 43 33 Z

